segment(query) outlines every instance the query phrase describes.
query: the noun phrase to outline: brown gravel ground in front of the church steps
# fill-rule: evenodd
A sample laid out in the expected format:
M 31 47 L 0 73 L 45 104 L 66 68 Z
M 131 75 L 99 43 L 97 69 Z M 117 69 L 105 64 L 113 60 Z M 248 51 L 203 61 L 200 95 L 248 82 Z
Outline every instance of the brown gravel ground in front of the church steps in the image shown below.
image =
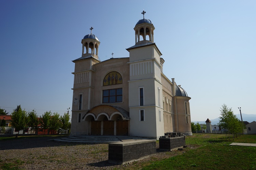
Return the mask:
M 183 151 L 161 152 L 140 161 L 124 165 L 108 163 L 108 144 L 67 145 L 48 141 L 59 137 L 27 137 L 0 141 L 0 169 L 139 169 L 151 161 L 179 155 Z

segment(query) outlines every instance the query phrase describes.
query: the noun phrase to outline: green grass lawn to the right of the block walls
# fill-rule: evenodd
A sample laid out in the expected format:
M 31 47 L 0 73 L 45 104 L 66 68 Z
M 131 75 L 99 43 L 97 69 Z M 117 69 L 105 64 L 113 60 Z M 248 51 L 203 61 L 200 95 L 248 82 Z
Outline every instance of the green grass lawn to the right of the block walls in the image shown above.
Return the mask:
M 194 134 L 186 138 L 185 153 L 152 162 L 142 169 L 256 169 L 256 147 L 229 146 L 256 143 L 256 135 L 226 139 L 224 134 Z

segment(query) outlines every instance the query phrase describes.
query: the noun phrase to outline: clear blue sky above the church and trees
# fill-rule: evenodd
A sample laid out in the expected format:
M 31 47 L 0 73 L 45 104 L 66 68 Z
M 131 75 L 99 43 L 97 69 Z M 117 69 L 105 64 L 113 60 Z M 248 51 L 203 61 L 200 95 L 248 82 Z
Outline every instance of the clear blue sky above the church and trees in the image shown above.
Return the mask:
M 0 107 L 62 115 L 72 107 L 74 63 L 93 27 L 101 61 L 129 57 L 134 26 L 145 18 L 165 60 L 190 100 L 192 121 L 256 114 L 256 1 L 0 1 Z M 71 110 L 71 109 L 70 109 Z M 30 111 L 30 110 L 28 110 Z

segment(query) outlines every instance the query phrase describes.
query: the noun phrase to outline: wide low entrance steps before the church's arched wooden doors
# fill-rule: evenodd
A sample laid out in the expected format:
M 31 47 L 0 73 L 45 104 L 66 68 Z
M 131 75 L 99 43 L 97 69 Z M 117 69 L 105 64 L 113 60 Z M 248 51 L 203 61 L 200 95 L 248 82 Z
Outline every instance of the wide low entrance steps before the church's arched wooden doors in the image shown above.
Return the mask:
M 80 136 L 69 136 L 58 139 L 53 139 L 55 142 L 61 143 L 79 143 L 79 144 L 95 144 L 95 143 L 113 143 L 113 142 L 122 142 L 122 141 L 132 141 L 148 139 L 138 136 L 94 136 L 94 135 L 80 135 Z

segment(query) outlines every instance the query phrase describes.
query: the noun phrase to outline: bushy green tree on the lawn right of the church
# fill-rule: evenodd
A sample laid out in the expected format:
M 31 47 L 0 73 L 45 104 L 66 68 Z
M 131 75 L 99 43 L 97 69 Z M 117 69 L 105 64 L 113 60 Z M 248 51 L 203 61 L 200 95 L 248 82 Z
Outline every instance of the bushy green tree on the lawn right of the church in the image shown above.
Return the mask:
M 229 131 L 229 134 L 237 135 L 244 129 L 242 122 L 234 115 L 232 108 L 228 108 L 227 105 L 223 104 L 221 107 L 221 116 L 219 117 L 219 126 L 222 129 Z

